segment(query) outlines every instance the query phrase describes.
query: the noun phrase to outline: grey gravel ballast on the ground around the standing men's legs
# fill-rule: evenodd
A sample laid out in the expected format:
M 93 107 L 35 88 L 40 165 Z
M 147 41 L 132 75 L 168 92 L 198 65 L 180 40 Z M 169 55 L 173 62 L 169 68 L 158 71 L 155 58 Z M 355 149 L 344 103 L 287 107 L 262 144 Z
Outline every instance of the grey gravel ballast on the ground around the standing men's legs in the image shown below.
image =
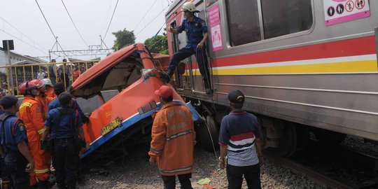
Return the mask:
M 85 184 L 79 188 L 163 188 L 158 167 L 149 165 L 148 149 L 138 148 L 127 156 L 124 164 L 109 162 L 106 165 L 91 165 L 84 173 Z M 193 188 L 204 188 L 197 181 L 209 178 L 207 185 L 212 188 L 227 188 L 228 182 L 225 169 L 218 170 L 214 153 L 208 153 L 201 148 L 195 149 L 195 164 L 193 170 Z M 179 188 L 177 180 L 176 188 Z M 265 160 L 261 167 L 262 188 L 323 188 L 305 176 L 294 174 L 290 169 Z M 247 188 L 244 181 L 243 187 Z

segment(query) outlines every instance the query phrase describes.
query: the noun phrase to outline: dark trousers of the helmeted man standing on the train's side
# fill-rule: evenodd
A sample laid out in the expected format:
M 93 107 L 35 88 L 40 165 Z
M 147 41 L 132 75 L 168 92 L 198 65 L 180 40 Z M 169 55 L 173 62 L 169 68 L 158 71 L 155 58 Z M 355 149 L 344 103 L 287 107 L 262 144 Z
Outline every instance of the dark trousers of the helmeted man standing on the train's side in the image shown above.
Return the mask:
M 181 48 L 179 51 L 174 52 L 168 69 L 174 71 L 181 60 L 186 59 L 191 55 L 195 55 L 202 79 L 204 80 L 204 87 L 207 89 L 210 88 L 210 73 L 209 68 L 207 67 L 207 54 L 205 49 L 205 46 L 203 46 L 202 48 L 197 48 L 195 50 L 191 48 Z

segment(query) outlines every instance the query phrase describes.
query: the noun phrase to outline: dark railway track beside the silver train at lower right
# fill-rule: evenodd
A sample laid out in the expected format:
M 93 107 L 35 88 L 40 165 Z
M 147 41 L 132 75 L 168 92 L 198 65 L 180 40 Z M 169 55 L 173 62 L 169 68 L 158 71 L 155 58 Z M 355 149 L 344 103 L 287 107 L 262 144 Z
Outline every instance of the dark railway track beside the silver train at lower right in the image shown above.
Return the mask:
M 374 166 L 378 162 L 377 158 L 348 151 L 344 148 L 336 148 L 333 152 L 335 154 L 331 154 L 332 158 L 328 158 L 329 154 L 326 156 L 318 155 L 318 157 L 322 157 L 318 158 L 315 153 L 306 152 L 295 154 L 292 158 L 282 158 L 265 151 L 265 156 L 269 160 L 287 167 L 295 174 L 307 176 L 310 180 L 325 188 L 378 188 L 377 175 L 372 175 L 374 174 Z M 298 158 L 302 154 L 306 155 Z M 325 161 L 325 159 L 327 160 Z M 339 160 L 338 163 L 335 162 L 337 159 Z M 342 164 L 346 167 L 345 170 L 339 168 Z

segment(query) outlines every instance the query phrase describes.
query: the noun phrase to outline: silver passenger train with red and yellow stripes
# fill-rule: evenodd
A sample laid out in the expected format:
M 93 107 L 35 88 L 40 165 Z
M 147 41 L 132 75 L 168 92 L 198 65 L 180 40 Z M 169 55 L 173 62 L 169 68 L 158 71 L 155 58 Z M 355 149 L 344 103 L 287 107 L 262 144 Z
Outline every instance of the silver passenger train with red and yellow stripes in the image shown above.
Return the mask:
M 167 27 L 181 25 L 172 3 Z M 244 109 L 260 119 L 265 148 L 287 156 L 309 138 L 339 144 L 346 134 L 378 141 L 378 1 L 195 0 L 207 22 L 214 94 L 204 93 L 195 56 L 176 71 L 176 88 L 207 117 L 217 143 L 227 94 L 241 90 Z M 167 33 L 169 55 L 185 32 Z M 314 135 L 312 135 L 314 134 Z M 205 144 L 206 145 L 206 144 Z

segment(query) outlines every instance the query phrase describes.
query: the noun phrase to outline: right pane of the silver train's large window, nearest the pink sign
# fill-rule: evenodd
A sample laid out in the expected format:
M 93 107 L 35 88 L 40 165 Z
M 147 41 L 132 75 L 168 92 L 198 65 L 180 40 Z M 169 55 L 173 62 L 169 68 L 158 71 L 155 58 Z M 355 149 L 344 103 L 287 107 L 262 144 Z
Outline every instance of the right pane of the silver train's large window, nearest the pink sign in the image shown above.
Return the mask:
M 261 0 L 265 38 L 304 31 L 312 25 L 311 0 Z

